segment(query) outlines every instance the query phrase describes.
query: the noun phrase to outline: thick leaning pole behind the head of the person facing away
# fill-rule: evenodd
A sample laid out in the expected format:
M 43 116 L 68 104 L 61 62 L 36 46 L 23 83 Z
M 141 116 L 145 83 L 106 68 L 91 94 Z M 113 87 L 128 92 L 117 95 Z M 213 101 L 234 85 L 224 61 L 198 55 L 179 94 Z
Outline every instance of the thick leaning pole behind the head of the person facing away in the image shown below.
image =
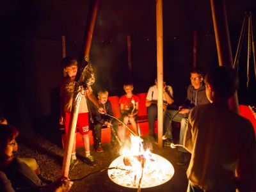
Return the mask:
M 233 66 L 232 51 L 230 46 L 230 37 L 228 33 L 228 21 L 225 8 L 225 0 L 211 0 L 212 20 L 216 46 L 218 51 L 218 60 L 220 66 Z M 228 100 L 229 108 L 239 113 L 237 93 Z

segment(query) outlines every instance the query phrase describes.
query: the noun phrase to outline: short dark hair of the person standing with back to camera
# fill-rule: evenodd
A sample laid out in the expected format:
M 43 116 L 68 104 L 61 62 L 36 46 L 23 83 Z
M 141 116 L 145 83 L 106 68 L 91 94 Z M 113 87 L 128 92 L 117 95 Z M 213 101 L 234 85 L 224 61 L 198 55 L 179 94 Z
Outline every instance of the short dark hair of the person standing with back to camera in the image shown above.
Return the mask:
M 213 90 L 221 97 L 229 99 L 238 88 L 236 70 L 226 66 L 216 67 L 207 73 L 205 83 L 211 84 Z

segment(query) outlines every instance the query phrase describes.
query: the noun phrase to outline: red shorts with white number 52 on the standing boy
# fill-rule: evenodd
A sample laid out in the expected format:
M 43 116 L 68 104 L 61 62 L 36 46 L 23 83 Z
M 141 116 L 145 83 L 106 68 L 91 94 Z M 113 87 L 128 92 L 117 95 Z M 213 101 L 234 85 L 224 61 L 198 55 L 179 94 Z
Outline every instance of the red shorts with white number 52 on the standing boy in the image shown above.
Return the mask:
M 64 127 L 65 127 L 66 134 L 68 133 L 70 116 L 71 116 L 71 113 L 65 113 L 65 116 L 64 116 Z M 81 134 L 88 134 L 88 132 L 90 131 L 88 113 L 78 114 L 77 123 L 76 123 L 76 132 L 77 132 L 77 129 Z

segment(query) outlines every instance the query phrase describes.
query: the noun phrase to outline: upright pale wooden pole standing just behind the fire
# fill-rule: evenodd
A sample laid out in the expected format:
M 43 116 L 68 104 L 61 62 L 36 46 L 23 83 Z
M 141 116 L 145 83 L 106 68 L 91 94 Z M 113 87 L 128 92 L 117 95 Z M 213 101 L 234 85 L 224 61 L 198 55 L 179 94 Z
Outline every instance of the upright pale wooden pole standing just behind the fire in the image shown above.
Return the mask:
M 163 147 L 163 0 L 156 0 L 157 127 L 158 147 Z

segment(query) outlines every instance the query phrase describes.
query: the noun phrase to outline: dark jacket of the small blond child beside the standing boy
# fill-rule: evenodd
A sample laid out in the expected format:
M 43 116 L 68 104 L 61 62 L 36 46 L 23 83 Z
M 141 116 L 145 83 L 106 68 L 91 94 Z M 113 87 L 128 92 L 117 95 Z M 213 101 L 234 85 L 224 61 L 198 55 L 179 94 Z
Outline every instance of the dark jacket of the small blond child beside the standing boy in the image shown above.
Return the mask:
M 99 102 L 99 106 L 100 108 L 103 108 L 105 110 L 105 113 L 113 116 L 113 111 L 112 111 L 111 103 L 109 102 L 109 100 L 107 100 L 105 104 L 102 104 L 101 102 Z M 98 124 L 98 123 L 104 124 L 105 122 L 111 121 L 112 118 L 108 115 L 99 113 L 99 111 L 96 109 L 93 110 L 93 120 L 95 124 Z

